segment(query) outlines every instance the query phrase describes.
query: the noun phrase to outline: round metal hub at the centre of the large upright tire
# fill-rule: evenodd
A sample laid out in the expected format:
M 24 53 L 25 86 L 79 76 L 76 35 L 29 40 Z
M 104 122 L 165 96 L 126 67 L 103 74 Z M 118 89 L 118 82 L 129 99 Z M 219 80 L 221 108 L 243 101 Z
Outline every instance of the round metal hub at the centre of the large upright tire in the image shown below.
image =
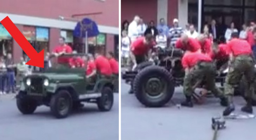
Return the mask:
M 159 78 L 150 78 L 146 83 L 146 92 L 151 96 L 159 95 L 164 89 L 164 85 L 162 84 Z

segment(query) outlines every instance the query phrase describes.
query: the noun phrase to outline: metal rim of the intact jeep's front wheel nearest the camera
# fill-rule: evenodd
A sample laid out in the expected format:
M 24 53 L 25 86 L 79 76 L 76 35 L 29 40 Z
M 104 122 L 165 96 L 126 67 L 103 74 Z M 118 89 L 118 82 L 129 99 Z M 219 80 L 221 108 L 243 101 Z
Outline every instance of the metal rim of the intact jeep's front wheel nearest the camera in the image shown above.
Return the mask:
M 69 111 L 70 102 L 68 99 L 61 97 L 58 99 L 57 109 L 59 114 L 65 115 Z

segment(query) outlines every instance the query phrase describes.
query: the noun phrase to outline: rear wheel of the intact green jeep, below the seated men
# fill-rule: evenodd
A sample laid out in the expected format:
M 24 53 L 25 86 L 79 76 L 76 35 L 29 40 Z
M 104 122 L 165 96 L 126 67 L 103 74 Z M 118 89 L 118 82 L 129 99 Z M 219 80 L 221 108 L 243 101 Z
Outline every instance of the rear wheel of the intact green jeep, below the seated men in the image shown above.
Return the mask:
M 100 111 L 109 111 L 114 102 L 113 90 L 110 87 L 103 87 L 101 97 L 97 99 L 98 109 Z

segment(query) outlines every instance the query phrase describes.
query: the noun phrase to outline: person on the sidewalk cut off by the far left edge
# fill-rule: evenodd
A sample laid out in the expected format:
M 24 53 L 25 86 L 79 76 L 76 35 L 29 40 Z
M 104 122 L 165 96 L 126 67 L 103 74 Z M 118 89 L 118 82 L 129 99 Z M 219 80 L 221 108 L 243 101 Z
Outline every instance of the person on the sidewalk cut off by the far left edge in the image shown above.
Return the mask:
M 5 82 L 6 82 L 6 65 L 4 57 L 0 58 L 0 94 L 5 93 Z

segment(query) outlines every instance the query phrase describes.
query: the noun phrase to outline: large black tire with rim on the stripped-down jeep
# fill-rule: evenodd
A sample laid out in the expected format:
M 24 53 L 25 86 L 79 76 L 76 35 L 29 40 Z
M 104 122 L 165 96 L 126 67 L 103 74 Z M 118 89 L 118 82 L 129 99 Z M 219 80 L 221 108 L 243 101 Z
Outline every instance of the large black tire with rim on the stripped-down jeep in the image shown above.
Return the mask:
M 147 107 L 161 107 L 172 98 L 175 84 L 165 68 L 148 66 L 136 75 L 133 87 L 140 103 Z

